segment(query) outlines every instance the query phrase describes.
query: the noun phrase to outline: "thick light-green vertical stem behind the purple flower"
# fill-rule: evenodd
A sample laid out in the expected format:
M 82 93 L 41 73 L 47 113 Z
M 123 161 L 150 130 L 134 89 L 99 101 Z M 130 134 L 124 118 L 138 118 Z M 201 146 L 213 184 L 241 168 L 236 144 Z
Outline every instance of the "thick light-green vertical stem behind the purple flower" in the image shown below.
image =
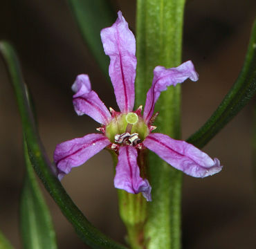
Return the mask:
M 184 4 L 185 0 L 137 0 L 137 105 L 145 102 L 155 66 L 181 63 Z M 170 86 L 156 104 L 157 132 L 172 138 L 180 136 L 180 95 L 179 85 Z M 147 207 L 146 248 L 181 248 L 182 173 L 154 154 L 148 159 L 153 201 Z

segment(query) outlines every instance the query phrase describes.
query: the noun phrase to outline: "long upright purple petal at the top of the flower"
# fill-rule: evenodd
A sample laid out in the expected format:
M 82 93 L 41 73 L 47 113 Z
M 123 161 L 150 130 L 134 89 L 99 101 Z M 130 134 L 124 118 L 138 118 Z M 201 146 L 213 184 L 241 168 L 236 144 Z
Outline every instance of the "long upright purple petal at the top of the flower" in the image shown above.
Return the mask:
M 136 42 L 122 12 L 118 12 L 118 19 L 111 27 L 101 30 L 100 36 L 104 52 L 110 57 L 109 76 L 118 107 L 122 112 L 132 111 L 137 64 Z

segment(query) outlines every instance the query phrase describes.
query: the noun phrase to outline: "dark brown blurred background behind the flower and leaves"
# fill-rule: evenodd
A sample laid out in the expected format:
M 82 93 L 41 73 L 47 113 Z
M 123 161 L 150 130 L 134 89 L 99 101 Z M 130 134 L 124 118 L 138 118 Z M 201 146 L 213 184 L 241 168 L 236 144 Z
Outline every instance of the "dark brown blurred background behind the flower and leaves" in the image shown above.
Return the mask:
M 136 1 L 111 1 L 136 30 Z M 210 117 L 236 80 L 255 17 L 254 0 L 191 0 L 185 8 L 183 62 L 192 59 L 199 82 L 185 82 L 182 138 Z M 98 17 L 100 18 L 100 17 Z M 100 34 L 99 34 L 100 35 Z M 92 133 L 98 124 L 73 110 L 71 84 L 88 73 L 107 107 L 117 107 L 111 84 L 84 44 L 66 1 L 1 0 L 0 39 L 15 45 L 37 109 L 39 132 L 53 158 L 57 143 Z M 117 108 L 116 108 L 117 109 Z M 0 57 L 0 230 L 15 248 L 19 237 L 19 196 L 24 176 L 21 121 Z M 253 172 L 253 101 L 203 149 L 221 160 L 221 173 L 204 179 L 184 176 L 183 248 L 256 248 Z M 124 243 L 118 217 L 111 156 L 102 151 L 77 167 L 64 187 L 89 221 Z M 59 248 L 86 248 L 51 196 Z

